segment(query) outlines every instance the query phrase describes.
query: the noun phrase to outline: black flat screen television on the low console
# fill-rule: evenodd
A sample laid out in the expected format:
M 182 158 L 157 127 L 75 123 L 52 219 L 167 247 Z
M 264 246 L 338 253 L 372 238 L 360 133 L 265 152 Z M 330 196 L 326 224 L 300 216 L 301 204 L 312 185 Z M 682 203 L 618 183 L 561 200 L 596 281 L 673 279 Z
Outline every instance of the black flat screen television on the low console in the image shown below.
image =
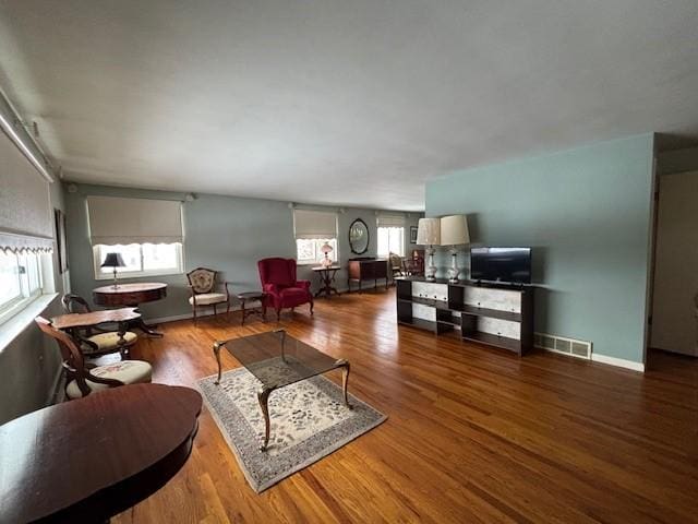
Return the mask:
M 470 279 L 531 283 L 531 248 L 472 248 Z

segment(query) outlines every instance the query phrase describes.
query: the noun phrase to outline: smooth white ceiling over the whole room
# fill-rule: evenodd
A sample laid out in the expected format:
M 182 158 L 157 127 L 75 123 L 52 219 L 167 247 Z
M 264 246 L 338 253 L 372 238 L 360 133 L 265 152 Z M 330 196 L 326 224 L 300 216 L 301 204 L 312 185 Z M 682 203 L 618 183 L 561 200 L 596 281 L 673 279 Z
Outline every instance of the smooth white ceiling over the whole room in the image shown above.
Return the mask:
M 420 210 L 448 170 L 698 136 L 698 1 L 0 0 L 67 178 Z

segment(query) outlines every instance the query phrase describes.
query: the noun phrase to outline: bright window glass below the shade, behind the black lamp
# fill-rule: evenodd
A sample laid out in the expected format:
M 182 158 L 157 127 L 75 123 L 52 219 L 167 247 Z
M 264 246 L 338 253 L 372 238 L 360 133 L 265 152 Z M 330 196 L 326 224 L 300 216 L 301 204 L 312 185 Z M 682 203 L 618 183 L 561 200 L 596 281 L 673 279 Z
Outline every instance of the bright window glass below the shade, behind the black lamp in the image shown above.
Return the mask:
M 112 267 L 101 267 L 107 253 L 119 253 L 125 267 L 117 267 L 124 276 L 172 275 L 182 273 L 182 245 L 174 243 L 130 243 L 128 246 L 105 246 L 94 248 L 95 278 L 107 279 L 113 276 Z

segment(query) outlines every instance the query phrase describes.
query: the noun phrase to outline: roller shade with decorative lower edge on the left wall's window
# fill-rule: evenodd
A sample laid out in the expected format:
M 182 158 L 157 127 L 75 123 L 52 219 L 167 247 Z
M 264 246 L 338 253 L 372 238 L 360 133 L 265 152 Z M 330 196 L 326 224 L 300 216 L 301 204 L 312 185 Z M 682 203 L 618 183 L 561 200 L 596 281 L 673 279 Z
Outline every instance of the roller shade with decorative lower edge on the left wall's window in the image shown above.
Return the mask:
M 0 250 L 50 251 L 51 216 L 48 180 L 0 132 Z

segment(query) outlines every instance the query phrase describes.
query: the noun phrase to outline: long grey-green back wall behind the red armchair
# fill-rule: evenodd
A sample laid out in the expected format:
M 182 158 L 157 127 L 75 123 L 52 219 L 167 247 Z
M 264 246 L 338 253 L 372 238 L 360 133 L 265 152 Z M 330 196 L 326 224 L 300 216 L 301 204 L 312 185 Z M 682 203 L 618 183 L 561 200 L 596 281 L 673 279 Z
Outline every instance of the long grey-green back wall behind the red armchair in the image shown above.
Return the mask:
M 92 290 L 110 281 L 94 278 L 86 204 L 88 195 L 184 200 L 184 193 L 91 184 L 76 184 L 75 192 L 65 192 L 72 288 L 73 293 L 92 300 Z M 299 206 L 337 211 L 337 207 Z M 408 250 L 416 247 L 409 243 L 409 226 L 416 226 L 420 216 L 423 214 L 414 212 L 406 216 L 405 246 Z M 288 202 L 198 194 L 196 200 L 183 202 L 183 218 L 185 271 L 198 266 L 220 271 L 220 278 L 232 283 L 232 293 L 261 288 L 257 260 L 266 257 L 296 258 L 293 211 L 289 209 Z M 342 267 L 347 265 L 347 259 L 357 257 L 351 253 L 348 240 L 349 225 L 356 218 L 362 218 L 370 230 L 369 251 L 363 255 L 376 254 L 376 211 L 347 207 L 344 213 L 338 213 L 338 251 Z M 337 260 L 336 253 L 333 255 Z M 298 274 L 299 278 L 310 279 L 314 290 L 317 288 L 317 275 L 312 273 L 310 266 L 299 266 Z M 337 273 L 338 289 L 346 287 L 346 279 L 347 273 L 342 269 Z M 120 281 L 168 284 L 166 299 L 143 305 L 145 318 L 171 318 L 191 312 L 185 274 Z

